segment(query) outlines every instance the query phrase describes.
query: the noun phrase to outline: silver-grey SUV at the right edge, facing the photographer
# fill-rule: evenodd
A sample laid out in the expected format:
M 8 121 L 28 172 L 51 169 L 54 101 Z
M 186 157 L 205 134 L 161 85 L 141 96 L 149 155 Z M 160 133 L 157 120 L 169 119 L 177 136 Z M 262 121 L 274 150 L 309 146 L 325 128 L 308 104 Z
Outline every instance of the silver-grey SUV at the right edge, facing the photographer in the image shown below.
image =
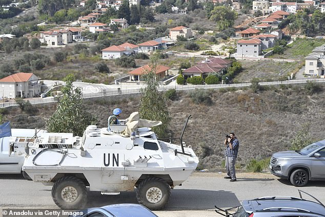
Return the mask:
M 325 140 L 301 150 L 274 153 L 269 167 L 273 175 L 290 179 L 298 187 L 309 180 L 325 180 Z

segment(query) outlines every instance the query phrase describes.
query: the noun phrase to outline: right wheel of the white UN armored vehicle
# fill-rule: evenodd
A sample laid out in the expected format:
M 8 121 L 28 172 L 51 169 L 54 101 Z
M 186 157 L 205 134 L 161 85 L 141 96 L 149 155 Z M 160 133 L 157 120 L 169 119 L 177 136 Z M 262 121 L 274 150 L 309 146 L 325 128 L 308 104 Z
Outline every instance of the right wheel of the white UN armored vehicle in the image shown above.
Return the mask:
M 136 188 L 136 199 L 139 204 L 151 210 L 165 207 L 171 196 L 171 188 L 164 179 L 149 177 Z

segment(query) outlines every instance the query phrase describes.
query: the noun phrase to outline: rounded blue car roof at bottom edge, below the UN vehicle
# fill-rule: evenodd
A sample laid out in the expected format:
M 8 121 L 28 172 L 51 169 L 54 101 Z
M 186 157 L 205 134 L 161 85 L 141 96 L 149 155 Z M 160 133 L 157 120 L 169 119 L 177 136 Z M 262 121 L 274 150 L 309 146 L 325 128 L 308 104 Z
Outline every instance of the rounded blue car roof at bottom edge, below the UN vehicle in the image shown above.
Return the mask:
M 158 217 L 148 208 L 140 205 L 140 204 L 130 204 L 130 203 L 123 203 L 123 204 L 113 204 L 107 205 L 100 208 L 94 208 L 92 211 L 100 211 L 106 210 L 113 214 L 116 217 Z M 90 211 L 89 211 L 90 212 Z

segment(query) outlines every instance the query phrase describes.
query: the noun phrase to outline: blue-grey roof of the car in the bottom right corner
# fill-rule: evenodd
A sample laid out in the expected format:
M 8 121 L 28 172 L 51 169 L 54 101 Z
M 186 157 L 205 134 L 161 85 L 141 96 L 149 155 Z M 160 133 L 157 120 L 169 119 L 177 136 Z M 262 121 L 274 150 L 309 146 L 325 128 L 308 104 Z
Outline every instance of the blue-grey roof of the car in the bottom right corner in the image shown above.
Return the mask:
M 304 212 L 325 216 L 325 207 L 319 203 L 294 197 L 265 197 L 245 200 L 242 206 L 246 212 Z

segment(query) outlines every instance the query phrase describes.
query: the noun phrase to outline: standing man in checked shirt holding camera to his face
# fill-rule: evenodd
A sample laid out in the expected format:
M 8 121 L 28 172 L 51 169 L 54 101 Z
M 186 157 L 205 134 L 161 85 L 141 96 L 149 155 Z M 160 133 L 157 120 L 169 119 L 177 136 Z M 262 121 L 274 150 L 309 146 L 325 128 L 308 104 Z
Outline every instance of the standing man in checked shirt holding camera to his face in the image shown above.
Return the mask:
M 230 133 L 226 135 L 225 139 L 226 146 L 226 173 L 227 176 L 225 179 L 231 179 L 231 182 L 237 181 L 236 172 L 235 172 L 235 164 L 238 154 L 239 141 L 237 137 L 235 137 L 234 133 Z

